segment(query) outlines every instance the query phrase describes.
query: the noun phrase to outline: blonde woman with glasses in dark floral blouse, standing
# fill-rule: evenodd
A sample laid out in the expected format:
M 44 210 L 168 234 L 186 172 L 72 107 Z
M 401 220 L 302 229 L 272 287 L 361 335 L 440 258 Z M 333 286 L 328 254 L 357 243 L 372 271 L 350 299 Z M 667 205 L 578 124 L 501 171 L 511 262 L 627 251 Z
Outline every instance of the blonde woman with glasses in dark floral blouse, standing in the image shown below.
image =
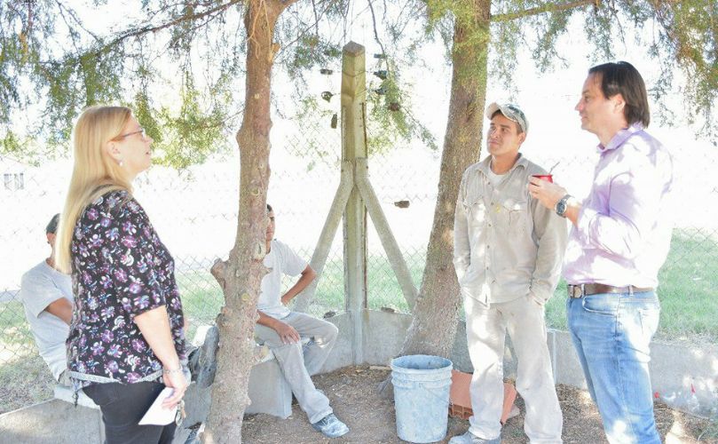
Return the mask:
M 99 405 L 107 443 L 170 442 L 176 424 L 138 425 L 162 389 L 175 408 L 187 381 L 182 303 L 174 261 L 132 180 L 151 163 L 153 140 L 127 107 L 89 107 L 75 124 L 75 166 L 56 239 L 75 305 L 67 369 Z

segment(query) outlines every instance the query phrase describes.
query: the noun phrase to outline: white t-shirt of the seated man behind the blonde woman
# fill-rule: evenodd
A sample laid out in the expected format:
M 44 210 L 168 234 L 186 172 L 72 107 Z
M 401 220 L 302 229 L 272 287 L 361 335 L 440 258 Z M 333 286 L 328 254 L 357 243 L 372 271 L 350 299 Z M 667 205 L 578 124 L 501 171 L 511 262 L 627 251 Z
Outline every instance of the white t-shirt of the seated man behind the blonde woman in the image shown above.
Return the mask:
M 67 369 L 65 340 L 70 327 L 59 317 L 46 312 L 45 308 L 60 297 L 65 297 L 73 304 L 69 274 L 59 273 L 43 261 L 22 275 L 20 300 L 25 306 L 25 317 L 28 318 L 40 356 L 50 367 L 55 380 Z

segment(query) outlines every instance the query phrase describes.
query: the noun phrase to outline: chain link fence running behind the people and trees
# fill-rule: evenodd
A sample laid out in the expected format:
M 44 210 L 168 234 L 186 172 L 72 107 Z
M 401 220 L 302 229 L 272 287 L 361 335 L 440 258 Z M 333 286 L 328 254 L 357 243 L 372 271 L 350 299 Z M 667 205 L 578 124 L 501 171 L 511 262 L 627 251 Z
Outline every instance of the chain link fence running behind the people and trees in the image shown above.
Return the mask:
M 554 106 L 570 107 L 568 102 L 559 98 Z M 338 109 L 320 104 L 304 110 L 301 119 L 296 115 L 273 117 L 268 202 L 276 215 L 275 235 L 307 261 L 339 185 L 341 136 L 331 123 L 335 112 Z M 525 155 L 547 169 L 558 163 L 553 170 L 556 182 L 571 184 L 574 194 L 585 195 L 596 160 L 590 149 L 595 139 L 588 138 L 576 148 L 570 146 L 573 142 L 558 138 L 546 149 L 538 141 L 550 136 L 533 130 L 530 137 L 536 142 L 529 139 Z M 666 337 L 714 340 L 718 337 L 714 322 L 714 313 L 718 313 L 714 298 L 718 288 L 718 222 L 714 219 L 718 187 L 713 185 L 712 171 L 718 153 L 707 144 L 672 148 L 675 195 L 681 202 L 667 215 L 675 218 L 676 229 L 660 276 L 661 331 Z M 371 182 L 417 289 L 436 203 L 439 163 L 440 152 L 410 142 L 369 159 Z M 22 274 L 50 253 L 43 228 L 51 215 L 61 210 L 70 171 L 67 159 L 33 166 L 0 157 L 0 413 L 46 399 L 51 393 L 50 372 L 37 354 L 18 293 Z M 233 150 L 187 170 L 154 167 L 136 183 L 138 201 L 176 260 L 178 285 L 191 326 L 189 337 L 197 326 L 212 323 L 223 304 L 209 266 L 216 258 L 226 258 L 236 236 L 238 178 L 239 155 Z M 408 313 L 370 218 L 367 224 L 367 305 Z M 309 312 L 314 315 L 344 311 L 342 237 L 340 228 L 310 305 Z M 287 279 L 284 284 L 293 281 Z M 547 316 L 549 325 L 561 328 L 565 319 L 561 286 L 556 294 L 561 296 L 549 303 Z

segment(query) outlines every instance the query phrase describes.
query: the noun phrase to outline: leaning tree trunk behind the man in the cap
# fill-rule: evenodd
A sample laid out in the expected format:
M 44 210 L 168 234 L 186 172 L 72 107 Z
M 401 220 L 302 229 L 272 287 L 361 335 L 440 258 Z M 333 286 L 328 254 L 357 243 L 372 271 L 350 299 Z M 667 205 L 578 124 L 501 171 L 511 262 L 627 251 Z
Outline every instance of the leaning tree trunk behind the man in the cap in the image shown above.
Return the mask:
M 414 320 L 399 355 L 448 357 L 454 345 L 461 297 L 454 272 L 454 207 L 463 171 L 477 162 L 481 148 L 490 0 L 475 0 L 473 15 L 454 23 L 452 84 L 437 206 L 431 228 L 422 288 Z

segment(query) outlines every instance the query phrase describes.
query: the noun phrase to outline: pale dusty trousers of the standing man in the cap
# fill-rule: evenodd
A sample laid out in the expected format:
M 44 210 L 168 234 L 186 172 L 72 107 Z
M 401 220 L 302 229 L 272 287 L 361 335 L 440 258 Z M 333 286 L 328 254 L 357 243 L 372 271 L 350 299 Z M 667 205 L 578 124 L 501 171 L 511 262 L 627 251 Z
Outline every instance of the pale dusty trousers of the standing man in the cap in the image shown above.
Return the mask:
M 525 401 L 524 431 L 532 444 L 560 444 L 563 418 L 546 344 L 544 308 L 530 297 L 481 304 L 464 298 L 466 337 L 474 366 L 469 431 L 485 440 L 501 435 L 503 353 L 509 333 L 517 357 L 517 392 Z

